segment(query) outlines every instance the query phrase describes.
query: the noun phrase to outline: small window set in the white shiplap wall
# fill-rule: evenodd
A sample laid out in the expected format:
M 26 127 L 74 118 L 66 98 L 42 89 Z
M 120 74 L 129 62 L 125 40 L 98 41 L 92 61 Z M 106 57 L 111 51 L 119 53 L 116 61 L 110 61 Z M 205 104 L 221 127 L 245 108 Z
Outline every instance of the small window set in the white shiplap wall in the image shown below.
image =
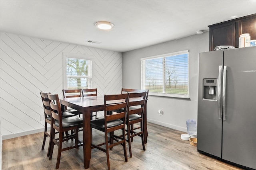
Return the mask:
M 64 56 L 64 89 L 92 88 L 92 60 L 84 55 Z M 66 83 L 65 83 L 66 82 Z M 66 87 L 65 87 L 66 85 Z

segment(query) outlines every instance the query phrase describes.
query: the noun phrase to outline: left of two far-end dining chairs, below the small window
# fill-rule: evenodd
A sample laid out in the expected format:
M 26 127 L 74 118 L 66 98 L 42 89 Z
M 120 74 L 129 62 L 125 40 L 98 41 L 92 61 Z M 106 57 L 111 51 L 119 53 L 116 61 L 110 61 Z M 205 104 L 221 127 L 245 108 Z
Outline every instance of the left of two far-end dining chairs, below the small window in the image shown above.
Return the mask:
M 81 89 L 63 89 L 62 93 L 64 98 L 81 97 Z M 76 109 L 70 107 L 66 107 L 66 111 L 74 115 L 79 115 L 79 117 L 82 114 L 80 111 L 77 111 Z

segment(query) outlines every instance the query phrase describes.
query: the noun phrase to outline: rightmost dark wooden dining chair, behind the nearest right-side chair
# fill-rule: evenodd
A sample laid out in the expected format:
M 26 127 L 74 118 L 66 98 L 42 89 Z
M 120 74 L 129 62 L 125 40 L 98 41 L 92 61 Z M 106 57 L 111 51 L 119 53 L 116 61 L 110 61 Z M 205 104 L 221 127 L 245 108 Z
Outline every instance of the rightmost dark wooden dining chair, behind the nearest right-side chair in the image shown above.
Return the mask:
M 145 143 L 144 143 L 144 131 L 143 131 L 143 117 L 144 117 L 144 106 L 146 101 L 147 92 L 140 92 L 140 93 L 130 93 L 128 106 L 127 106 L 127 118 L 126 118 L 126 125 L 127 125 L 127 140 L 129 145 L 129 153 L 130 157 L 132 158 L 132 147 L 131 147 L 131 140 L 135 136 L 141 137 L 142 147 L 143 150 L 146 150 Z M 133 98 L 140 98 L 139 101 L 133 101 Z M 134 128 L 134 124 L 137 125 Z M 139 126 L 138 126 L 139 124 Z M 138 131 L 137 129 L 140 129 Z

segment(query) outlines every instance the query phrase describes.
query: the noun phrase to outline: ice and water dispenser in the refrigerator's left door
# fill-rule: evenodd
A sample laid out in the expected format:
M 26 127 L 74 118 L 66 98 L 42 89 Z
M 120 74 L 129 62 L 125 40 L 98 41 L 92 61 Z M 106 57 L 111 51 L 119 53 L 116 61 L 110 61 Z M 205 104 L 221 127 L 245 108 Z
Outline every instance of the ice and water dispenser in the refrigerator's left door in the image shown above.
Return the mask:
M 217 78 L 204 78 L 204 99 L 217 100 Z

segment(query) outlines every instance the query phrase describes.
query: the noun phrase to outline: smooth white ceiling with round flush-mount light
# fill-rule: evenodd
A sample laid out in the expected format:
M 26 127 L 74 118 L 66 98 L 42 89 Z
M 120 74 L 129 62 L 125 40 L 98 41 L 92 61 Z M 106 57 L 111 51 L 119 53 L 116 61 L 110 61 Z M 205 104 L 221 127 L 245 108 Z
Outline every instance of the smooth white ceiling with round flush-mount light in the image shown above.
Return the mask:
M 254 13 L 256 0 L 0 0 L 0 31 L 125 52 Z

